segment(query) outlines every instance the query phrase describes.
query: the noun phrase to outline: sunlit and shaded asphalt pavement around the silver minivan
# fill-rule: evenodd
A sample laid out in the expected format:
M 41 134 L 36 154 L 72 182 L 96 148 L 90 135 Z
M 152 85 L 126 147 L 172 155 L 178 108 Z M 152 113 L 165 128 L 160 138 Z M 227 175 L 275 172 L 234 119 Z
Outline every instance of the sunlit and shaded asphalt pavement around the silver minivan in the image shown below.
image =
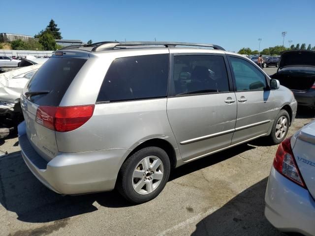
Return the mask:
M 299 110 L 288 135 L 314 117 Z M 0 236 L 280 236 L 263 214 L 276 149 L 258 139 L 196 160 L 176 169 L 156 199 L 132 206 L 116 191 L 50 191 L 29 171 L 11 135 L 0 140 L 9 153 L 0 157 Z

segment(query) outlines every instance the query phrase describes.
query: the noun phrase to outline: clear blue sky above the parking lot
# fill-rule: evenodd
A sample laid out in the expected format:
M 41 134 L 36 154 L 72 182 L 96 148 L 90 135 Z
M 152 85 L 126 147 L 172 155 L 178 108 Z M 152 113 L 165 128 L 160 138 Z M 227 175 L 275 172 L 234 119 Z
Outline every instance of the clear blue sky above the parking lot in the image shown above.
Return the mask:
M 315 46 L 315 0 L 12 0 L 1 4 L 0 32 L 34 35 L 54 19 L 63 39 L 87 42 L 185 41 L 228 51 Z

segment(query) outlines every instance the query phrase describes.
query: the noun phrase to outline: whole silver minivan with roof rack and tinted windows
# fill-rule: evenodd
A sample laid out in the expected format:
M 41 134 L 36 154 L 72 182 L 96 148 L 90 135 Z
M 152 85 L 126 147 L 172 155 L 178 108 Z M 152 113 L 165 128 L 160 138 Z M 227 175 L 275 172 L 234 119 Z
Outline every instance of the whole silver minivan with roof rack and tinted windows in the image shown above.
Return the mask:
M 263 136 L 279 144 L 297 103 L 217 45 L 101 42 L 56 51 L 21 107 L 22 156 L 44 185 L 70 195 L 117 188 L 143 203 L 173 168 Z

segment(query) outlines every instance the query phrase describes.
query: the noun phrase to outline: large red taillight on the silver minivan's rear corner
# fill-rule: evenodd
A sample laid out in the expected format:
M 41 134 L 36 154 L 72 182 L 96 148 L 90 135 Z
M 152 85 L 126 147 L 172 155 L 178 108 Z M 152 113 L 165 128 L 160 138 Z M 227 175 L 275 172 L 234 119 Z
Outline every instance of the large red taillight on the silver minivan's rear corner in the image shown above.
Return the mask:
M 36 111 L 36 122 L 44 127 L 59 132 L 79 128 L 93 115 L 95 105 L 50 107 L 39 106 Z

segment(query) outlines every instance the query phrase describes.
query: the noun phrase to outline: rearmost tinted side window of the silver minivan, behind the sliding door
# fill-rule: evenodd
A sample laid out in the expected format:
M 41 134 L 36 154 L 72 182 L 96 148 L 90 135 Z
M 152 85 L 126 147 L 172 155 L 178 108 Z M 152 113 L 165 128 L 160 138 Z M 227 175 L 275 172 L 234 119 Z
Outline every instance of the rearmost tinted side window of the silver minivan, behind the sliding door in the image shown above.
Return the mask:
M 97 102 L 166 97 L 169 54 L 115 59 L 110 65 Z

